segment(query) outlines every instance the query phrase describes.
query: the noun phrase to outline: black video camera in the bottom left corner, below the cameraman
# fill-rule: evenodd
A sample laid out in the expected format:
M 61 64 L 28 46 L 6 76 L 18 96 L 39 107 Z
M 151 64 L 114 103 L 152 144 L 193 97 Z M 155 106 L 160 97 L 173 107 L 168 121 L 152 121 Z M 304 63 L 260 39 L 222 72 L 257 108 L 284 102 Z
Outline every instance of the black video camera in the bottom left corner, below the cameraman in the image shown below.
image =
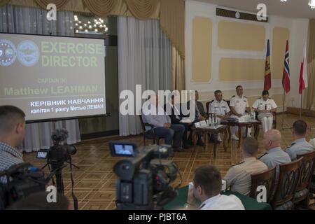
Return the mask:
M 0 210 L 32 193 L 45 191 L 50 178 L 29 163 L 14 165 L 0 172 Z

